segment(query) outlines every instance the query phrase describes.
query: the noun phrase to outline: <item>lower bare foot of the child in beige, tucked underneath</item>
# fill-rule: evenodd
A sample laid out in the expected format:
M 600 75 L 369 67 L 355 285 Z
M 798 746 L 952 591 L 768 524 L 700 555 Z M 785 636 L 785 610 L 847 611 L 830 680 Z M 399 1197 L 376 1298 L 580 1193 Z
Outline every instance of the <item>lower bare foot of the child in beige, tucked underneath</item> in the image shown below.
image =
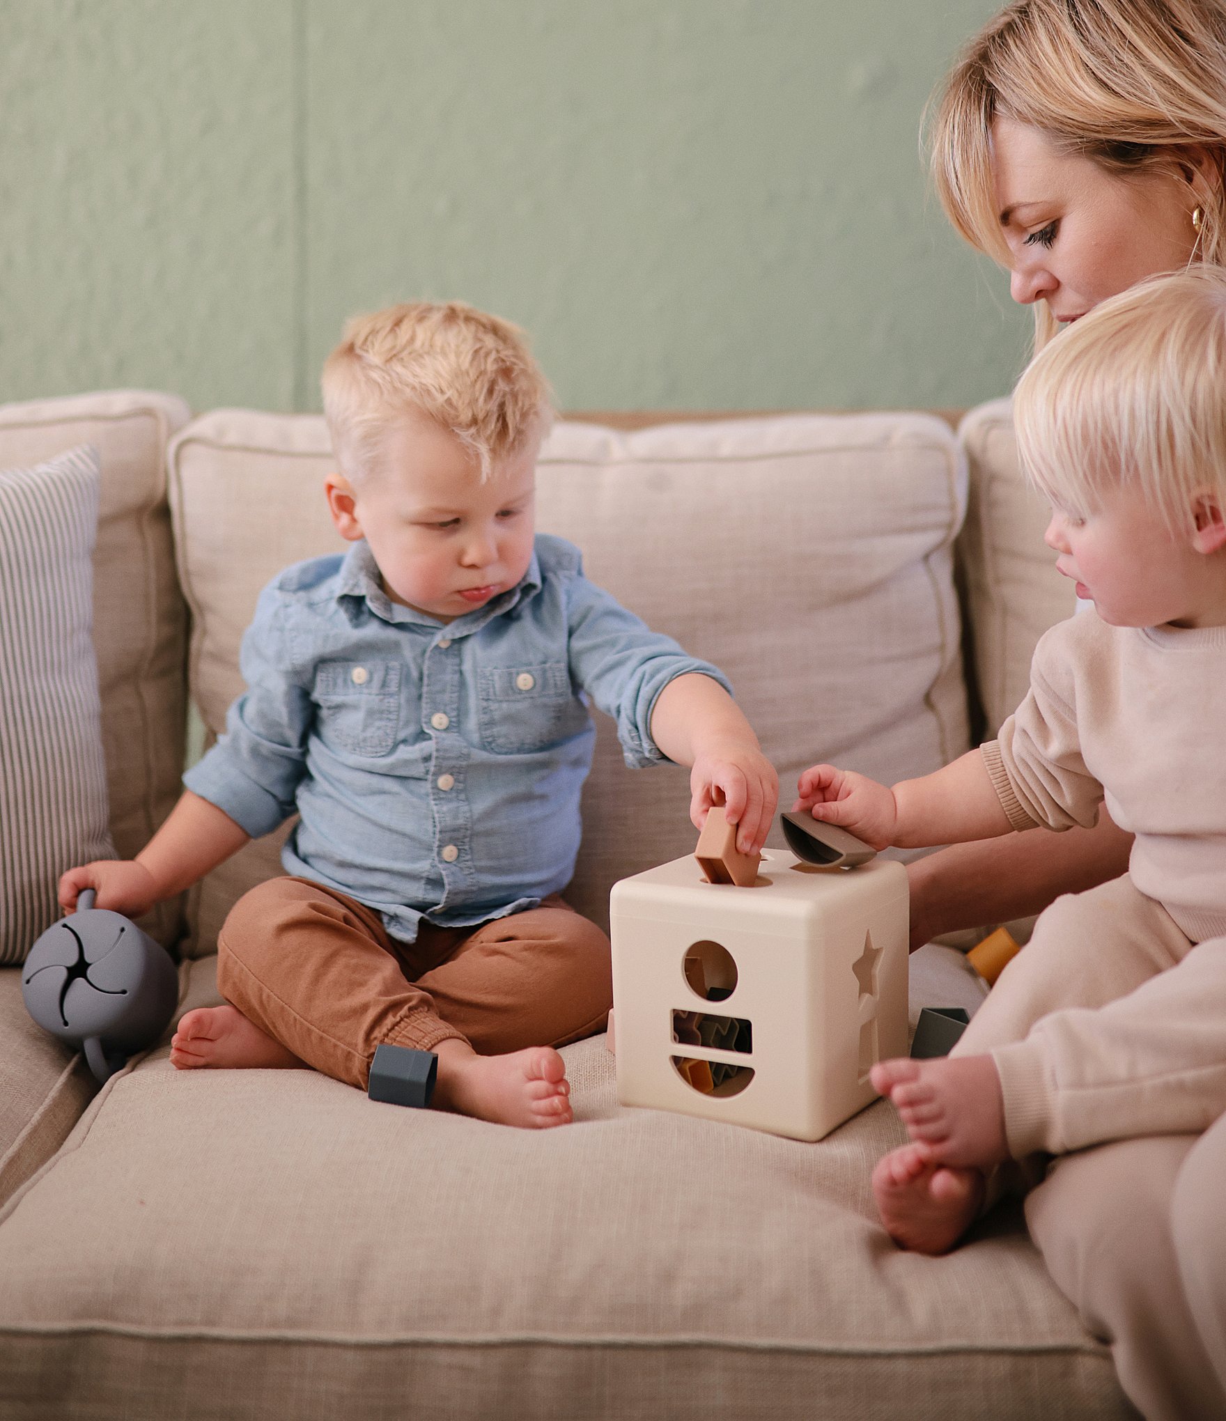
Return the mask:
M 975 1222 L 986 1188 L 979 1169 L 950 1169 L 925 1158 L 923 1145 L 899 1145 L 877 1162 L 872 1194 L 899 1248 L 946 1253 Z

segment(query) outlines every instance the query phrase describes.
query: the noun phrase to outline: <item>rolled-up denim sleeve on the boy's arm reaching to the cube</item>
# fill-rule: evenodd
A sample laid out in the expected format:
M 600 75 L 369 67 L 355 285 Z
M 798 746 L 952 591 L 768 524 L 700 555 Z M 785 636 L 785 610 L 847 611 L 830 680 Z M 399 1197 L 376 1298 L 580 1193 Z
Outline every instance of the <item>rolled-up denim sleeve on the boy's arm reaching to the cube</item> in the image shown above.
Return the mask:
M 663 688 L 678 676 L 710 676 L 732 693 L 725 674 L 688 655 L 672 637 L 655 632 L 580 570 L 568 588 L 571 678 L 617 722 L 626 764 L 666 762 L 651 735 Z

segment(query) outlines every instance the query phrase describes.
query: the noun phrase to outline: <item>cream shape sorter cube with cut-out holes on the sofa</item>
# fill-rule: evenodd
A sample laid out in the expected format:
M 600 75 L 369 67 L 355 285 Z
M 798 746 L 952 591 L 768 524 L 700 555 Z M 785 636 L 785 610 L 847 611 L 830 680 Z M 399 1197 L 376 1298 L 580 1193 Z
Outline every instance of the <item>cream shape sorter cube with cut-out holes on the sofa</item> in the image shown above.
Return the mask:
M 618 1100 L 821 1140 L 906 1054 L 902 864 L 766 850 L 753 887 L 692 855 L 614 884 Z

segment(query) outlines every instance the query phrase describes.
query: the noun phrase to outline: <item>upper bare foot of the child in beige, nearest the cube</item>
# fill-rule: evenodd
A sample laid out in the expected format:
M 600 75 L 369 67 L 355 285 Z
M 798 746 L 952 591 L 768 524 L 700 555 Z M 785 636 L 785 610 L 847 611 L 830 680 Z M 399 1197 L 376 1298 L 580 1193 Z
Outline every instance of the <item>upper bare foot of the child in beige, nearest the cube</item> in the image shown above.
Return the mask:
M 984 1168 L 1009 1158 L 1004 1097 L 990 1056 L 904 1056 L 874 1066 L 871 1079 L 929 1164 Z

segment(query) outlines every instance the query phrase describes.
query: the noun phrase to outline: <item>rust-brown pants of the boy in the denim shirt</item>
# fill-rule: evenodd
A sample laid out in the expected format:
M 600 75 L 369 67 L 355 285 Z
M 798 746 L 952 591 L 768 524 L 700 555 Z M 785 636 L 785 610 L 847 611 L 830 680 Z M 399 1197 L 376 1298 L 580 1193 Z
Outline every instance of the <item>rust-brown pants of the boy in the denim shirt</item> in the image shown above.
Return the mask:
M 270 878 L 230 909 L 217 989 L 308 1066 L 362 1090 L 375 1047 L 466 1040 L 483 1056 L 604 1030 L 609 941 L 561 898 L 476 928 L 382 918 L 305 878 Z

